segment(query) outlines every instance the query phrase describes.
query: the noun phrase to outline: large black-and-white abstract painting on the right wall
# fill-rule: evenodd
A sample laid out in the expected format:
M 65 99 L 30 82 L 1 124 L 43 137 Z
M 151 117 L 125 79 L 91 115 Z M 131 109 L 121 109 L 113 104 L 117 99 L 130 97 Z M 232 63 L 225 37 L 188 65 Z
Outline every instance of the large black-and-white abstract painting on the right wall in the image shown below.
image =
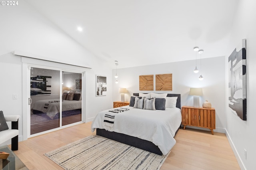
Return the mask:
M 239 51 L 238 51 L 239 50 Z M 228 57 L 229 107 L 232 113 L 246 121 L 246 39 Z

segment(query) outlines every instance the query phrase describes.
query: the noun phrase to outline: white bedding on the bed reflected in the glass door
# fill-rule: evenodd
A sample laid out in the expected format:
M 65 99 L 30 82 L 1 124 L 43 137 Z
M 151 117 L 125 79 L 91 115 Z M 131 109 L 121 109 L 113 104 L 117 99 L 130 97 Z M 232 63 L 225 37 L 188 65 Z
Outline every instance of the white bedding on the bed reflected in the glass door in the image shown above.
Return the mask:
M 40 100 L 36 101 L 34 105 L 32 106 L 33 110 L 41 111 L 43 113 L 46 113 L 48 117 L 51 119 L 54 118 L 54 116 L 57 113 L 60 113 L 60 102 L 56 103 L 50 103 L 49 101 L 60 101 L 60 99 L 48 99 L 48 100 Z M 48 103 L 48 108 L 45 104 Z M 72 111 L 75 109 L 82 109 L 82 101 L 76 101 L 76 100 L 62 100 L 62 111 Z

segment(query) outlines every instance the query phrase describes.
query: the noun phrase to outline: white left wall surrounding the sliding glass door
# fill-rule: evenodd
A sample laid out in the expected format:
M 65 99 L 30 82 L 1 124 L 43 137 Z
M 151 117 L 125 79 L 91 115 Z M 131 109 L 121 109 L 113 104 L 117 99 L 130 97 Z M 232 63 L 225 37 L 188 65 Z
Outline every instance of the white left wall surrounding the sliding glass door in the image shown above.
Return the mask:
M 26 95 L 26 87 L 22 86 L 24 70 L 21 57 L 13 55 L 12 51 L 24 51 L 70 64 L 90 65 L 92 69 L 79 69 L 86 72 L 85 121 L 92 121 L 99 111 L 112 107 L 112 69 L 106 67 L 102 61 L 35 11 L 26 1 L 22 1 L 18 6 L 1 6 L 0 16 L 4 16 L 0 28 L 0 110 L 4 115 L 20 115 L 19 140 L 23 140 L 26 133 L 26 129 L 23 130 L 23 123 L 26 124 L 26 120 L 23 118 L 29 113 L 23 112 L 22 102 L 23 96 Z M 33 61 L 33 64 L 37 65 L 69 68 L 68 65 L 59 63 Z M 96 97 L 96 74 L 108 77 L 108 91 L 104 97 Z M 18 94 L 18 99 L 12 99 L 12 94 Z M 7 143 L 10 144 L 10 141 Z

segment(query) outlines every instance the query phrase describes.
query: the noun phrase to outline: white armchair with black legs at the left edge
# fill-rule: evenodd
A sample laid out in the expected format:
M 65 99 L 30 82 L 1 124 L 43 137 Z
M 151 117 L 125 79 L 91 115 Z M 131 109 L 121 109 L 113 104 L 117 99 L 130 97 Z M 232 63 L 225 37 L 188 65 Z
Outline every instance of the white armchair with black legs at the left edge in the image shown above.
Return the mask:
M 6 122 L 12 122 L 12 129 L 0 131 L 0 144 L 12 139 L 12 150 L 18 150 L 18 119 L 19 115 L 4 116 Z

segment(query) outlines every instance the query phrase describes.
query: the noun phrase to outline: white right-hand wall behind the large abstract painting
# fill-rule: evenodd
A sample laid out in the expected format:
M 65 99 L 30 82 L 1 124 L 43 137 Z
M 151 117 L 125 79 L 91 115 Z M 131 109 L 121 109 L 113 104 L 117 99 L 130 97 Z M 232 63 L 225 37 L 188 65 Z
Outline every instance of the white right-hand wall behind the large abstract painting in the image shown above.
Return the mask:
M 234 146 L 240 167 L 252 170 L 256 167 L 255 96 L 256 96 L 256 1 L 240 0 L 234 16 L 232 34 L 226 54 L 226 129 Z M 242 121 L 228 107 L 228 56 L 242 39 L 246 39 L 247 121 Z M 247 158 L 244 156 L 247 151 Z M 240 162 L 241 160 L 241 162 Z

